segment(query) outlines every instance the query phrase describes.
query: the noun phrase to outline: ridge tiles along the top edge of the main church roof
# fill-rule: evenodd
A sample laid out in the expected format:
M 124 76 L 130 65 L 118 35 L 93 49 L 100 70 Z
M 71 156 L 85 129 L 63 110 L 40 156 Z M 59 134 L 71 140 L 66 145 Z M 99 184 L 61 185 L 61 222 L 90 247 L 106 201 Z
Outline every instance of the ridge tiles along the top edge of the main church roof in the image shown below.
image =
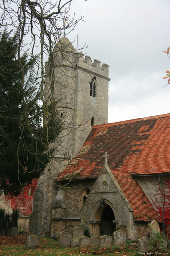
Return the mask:
M 148 117 L 135 118 L 135 119 L 125 120 L 125 121 L 118 121 L 118 122 L 109 123 L 109 124 L 94 125 L 94 126 L 92 127 L 92 129 L 93 129 L 93 128 L 100 128 L 100 127 L 107 127 L 107 126 L 112 126 L 112 125 L 118 125 L 118 124 L 134 123 L 134 122 L 137 122 L 137 121 L 155 119 L 155 118 L 166 117 L 166 116 L 170 116 L 170 113 L 162 114 L 162 115 L 157 115 L 157 116 L 148 116 Z

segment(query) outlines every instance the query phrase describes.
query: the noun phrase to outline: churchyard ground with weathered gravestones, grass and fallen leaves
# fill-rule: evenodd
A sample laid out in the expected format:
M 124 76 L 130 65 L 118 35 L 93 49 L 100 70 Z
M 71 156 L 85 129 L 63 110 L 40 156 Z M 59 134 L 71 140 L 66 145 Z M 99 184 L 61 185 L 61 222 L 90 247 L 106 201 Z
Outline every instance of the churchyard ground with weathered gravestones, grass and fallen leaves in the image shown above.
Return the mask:
M 132 241 L 127 238 L 126 228 L 116 230 L 112 236 L 84 236 L 83 227 L 75 227 L 72 232 L 59 233 L 58 239 L 18 233 L 16 227 L 11 236 L 0 236 L 0 255 L 170 255 L 170 241 L 160 233 L 157 221 L 149 224 L 150 238 L 147 236 Z

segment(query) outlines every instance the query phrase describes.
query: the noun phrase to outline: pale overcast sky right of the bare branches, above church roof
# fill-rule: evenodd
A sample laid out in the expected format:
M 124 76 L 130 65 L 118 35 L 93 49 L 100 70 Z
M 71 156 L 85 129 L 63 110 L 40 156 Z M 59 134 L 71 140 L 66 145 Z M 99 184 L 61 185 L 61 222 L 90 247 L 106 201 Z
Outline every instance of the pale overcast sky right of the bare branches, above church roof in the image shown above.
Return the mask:
M 109 67 L 108 123 L 170 112 L 169 0 L 75 0 L 80 22 L 68 37 Z M 76 42 L 74 44 L 76 47 Z

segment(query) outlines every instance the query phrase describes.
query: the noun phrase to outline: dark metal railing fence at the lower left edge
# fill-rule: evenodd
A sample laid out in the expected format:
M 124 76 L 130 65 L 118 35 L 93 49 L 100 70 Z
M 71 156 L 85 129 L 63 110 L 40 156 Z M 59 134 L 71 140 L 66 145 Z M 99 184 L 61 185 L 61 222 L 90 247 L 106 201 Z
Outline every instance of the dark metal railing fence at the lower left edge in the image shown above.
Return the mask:
M 18 227 L 18 217 L 18 210 L 13 210 L 12 214 L 0 211 L 0 235 L 10 236 L 12 227 Z

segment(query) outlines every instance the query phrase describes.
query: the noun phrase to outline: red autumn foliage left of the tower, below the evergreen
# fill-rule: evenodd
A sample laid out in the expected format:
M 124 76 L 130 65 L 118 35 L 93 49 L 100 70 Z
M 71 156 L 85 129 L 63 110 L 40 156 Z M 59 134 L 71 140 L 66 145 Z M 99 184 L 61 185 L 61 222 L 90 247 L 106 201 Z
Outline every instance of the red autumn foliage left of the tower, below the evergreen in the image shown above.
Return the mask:
M 19 196 L 5 196 L 6 201 L 11 201 L 12 210 L 19 209 L 19 213 L 23 215 L 29 215 L 32 212 L 33 193 L 37 187 L 37 180 L 33 180 L 32 184 L 29 184 L 23 189 Z

